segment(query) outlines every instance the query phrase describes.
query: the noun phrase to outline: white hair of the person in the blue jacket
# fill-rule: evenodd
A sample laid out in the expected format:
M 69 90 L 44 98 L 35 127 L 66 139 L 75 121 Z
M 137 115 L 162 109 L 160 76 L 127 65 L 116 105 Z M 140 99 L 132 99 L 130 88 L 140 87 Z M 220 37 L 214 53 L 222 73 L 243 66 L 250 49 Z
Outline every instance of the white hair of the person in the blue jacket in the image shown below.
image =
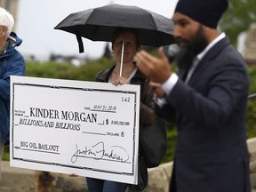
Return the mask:
M 12 28 L 14 26 L 14 19 L 12 14 L 2 7 L 0 7 L 0 26 L 7 28 L 6 37 L 11 34 Z

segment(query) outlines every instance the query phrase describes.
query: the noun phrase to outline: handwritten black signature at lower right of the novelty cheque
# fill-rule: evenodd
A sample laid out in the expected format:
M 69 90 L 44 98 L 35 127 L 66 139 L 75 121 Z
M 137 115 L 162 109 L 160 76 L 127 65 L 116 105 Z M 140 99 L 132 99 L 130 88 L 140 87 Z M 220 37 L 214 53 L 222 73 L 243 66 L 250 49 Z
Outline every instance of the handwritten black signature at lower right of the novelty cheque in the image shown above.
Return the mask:
M 79 157 L 93 158 L 95 160 L 108 160 L 125 163 L 129 160 L 129 154 L 120 146 L 111 146 L 105 149 L 104 142 L 100 141 L 92 147 L 78 148 L 76 144 L 76 151 L 71 156 L 71 162 L 76 163 Z

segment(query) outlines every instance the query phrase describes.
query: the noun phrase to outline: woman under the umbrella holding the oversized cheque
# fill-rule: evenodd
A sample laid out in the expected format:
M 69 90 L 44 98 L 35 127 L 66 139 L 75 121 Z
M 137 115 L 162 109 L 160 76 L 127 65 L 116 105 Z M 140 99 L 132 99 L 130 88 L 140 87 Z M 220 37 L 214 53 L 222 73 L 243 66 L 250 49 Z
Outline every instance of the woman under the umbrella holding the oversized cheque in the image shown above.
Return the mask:
M 140 36 L 136 29 L 117 28 L 112 39 L 112 50 L 116 59 L 116 65 L 112 68 L 100 71 L 96 75 L 96 82 L 106 82 L 117 85 L 122 84 L 140 84 L 140 129 L 143 124 L 155 124 L 156 114 L 154 110 L 153 91 L 149 86 L 149 81 L 133 61 L 136 52 L 140 51 Z M 121 73 L 120 73 L 121 71 Z M 122 74 L 122 75 L 121 75 Z M 148 167 L 141 156 L 139 147 L 139 175 L 143 175 L 144 180 L 141 187 L 128 183 L 116 182 L 113 180 L 100 180 L 86 178 L 87 186 L 90 192 L 124 192 L 130 186 L 131 191 L 142 191 L 148 185 Z M 72 174 L 70 176 L 76 176 Z

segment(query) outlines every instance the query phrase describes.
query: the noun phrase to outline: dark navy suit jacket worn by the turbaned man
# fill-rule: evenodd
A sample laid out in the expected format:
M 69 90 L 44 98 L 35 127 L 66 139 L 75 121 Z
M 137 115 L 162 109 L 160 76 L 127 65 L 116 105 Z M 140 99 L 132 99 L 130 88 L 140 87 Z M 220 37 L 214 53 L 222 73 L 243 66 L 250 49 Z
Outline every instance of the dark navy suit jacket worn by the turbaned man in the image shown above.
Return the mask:
M 206 53 L 188 84 L 180 79 L 159 109 L 169 120 L 176 114 L 178 124 L 170 191 L 250 191 L 243 58 L 225 37 Z

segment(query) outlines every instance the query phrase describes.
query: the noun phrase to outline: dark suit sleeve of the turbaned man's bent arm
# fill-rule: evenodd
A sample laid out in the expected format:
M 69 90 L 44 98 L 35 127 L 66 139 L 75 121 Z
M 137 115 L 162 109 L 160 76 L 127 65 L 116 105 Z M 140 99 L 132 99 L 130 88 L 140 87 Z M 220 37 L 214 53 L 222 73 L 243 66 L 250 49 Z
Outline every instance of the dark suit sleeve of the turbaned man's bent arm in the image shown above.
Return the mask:
M 225 55 L 225 59 L 209 63 L 198 76 L 193 87 L 178 80 L 166 98 L 182 116 L 216 128 L 225 124 L 235 110 L 243 113 L 249 80 L 241 60 Z

